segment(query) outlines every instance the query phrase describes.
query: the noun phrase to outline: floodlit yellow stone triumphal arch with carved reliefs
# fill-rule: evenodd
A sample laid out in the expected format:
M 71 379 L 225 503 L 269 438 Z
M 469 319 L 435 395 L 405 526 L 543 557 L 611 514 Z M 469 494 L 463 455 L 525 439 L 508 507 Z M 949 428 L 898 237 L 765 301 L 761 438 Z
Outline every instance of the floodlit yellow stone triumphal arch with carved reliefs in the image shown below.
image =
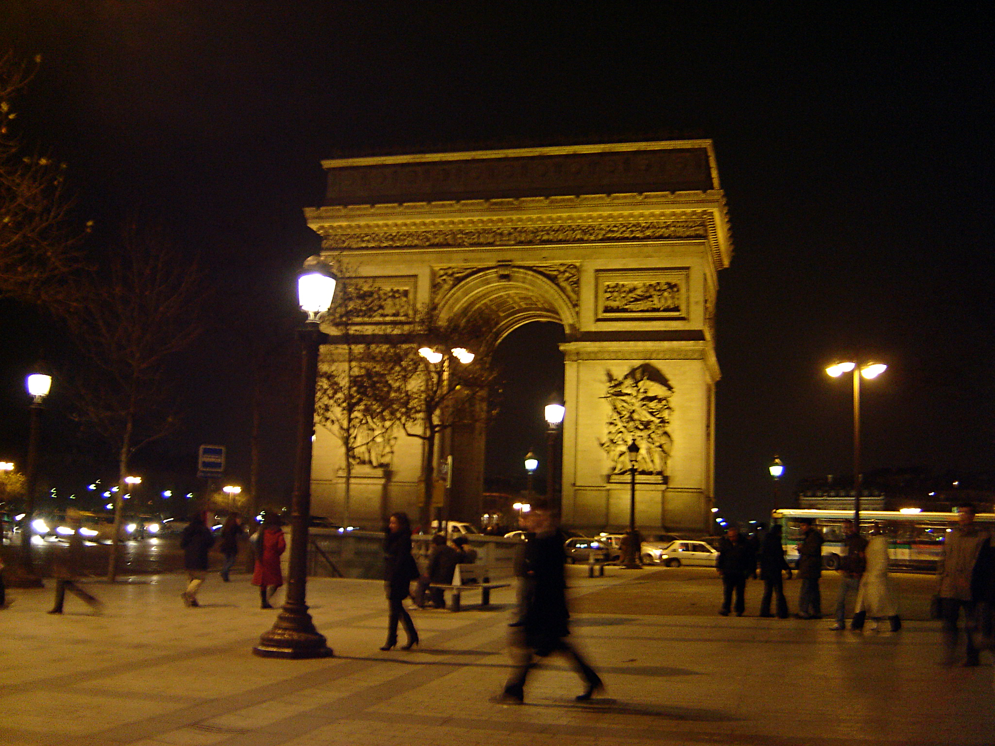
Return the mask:
M 322 256 L 346 258 L 391 313 L 431 299 L 444 315 L 489 307 L 498 336 L 563 325 L 567 525 L 628 525 L 635 440 L 638 525 L 709 526 L 717 273 L 732 253 L 710 140 L 322 165 L 324 204 L 305 211 Z M 453 445 L 451 517 L 478 522 L 483 436 L 472 440 Z M 421 460 L 422 441 L 401 435 L 386 463 L 355 466 L 350 519 L 372 528 L 393 510 L 417 515 Z M 342 466 L 340 444 L 317 427 L 313 513 L 342 515 Z

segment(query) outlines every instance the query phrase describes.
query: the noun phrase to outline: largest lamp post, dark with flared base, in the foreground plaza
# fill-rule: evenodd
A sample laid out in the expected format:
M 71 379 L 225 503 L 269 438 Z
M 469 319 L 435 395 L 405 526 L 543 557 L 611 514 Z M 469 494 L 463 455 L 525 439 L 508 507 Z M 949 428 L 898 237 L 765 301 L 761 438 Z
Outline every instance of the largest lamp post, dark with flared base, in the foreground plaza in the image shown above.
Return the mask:
M 314 629 L 307 613 L 307 523 L 310 518 L 311 434 L 314 431 L 314 393 L 317 356 L 324 333 L 318 317 L 328 310 L 335 292 L 335 278 L 325 269 L 311 269 L 298 279 L 300 309 L 307 320 L 298 330 L 300 340 L 300 401 L 298 443 L 291 498 L 291 565 L 284 608 L 273 628 L 264 633 L 253 653 L 265 657 L 310 658 L 331 655 L 323 635 Z

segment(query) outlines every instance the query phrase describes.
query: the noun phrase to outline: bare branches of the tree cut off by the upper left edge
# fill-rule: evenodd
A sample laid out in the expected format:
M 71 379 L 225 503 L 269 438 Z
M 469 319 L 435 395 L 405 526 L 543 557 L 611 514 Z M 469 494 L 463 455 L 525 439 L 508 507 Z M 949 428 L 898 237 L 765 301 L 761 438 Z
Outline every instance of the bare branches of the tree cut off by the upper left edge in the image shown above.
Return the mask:
M 70 302 L 64 280 L 83 266 L 84 231 L 70 219 L 66 164 L 31 151 L 14 131 L 14 101 L 40 62 L 0 55 L 0 297 L 51 307 Z

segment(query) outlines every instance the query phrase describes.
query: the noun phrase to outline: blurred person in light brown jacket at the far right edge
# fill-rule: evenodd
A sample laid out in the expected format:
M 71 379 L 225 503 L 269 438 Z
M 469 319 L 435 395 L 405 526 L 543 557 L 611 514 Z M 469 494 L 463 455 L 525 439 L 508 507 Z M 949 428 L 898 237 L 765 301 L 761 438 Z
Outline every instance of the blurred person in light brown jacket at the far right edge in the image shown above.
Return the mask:
M 943 550 L 936 565 L 936 594 L 940 601 L 940 618 L 943 620 L 943 662 L 953 663 L 957 648 L 957 621 L 964 612 L 965 625 L 974 613 L 975 603 L 982 599 L 989 570 L 987 556 L 991 535 L 987 529 L 974 522 L 974 505 L 964 502 L 957 505 L 957 525 L 949 529 L 943 541 Z M 964 665 L 978 664 L 978 650 L 971 636 L 967 635 Z

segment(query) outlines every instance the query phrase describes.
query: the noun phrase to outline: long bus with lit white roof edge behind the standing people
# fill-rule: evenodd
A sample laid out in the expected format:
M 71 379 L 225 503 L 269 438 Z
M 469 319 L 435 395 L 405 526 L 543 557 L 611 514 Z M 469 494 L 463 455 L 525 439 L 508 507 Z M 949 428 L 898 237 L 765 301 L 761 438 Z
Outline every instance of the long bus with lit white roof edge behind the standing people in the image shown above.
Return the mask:
M 798 542 L 801 541 L 800 518 L 811 518 L 822 531 L 822 564 L 828 570 L 840 566 L 844 548 L 843 521 L 853 519 L 853 510 L 802 510 L 781 508 L 771 511 L 771 525 L 781 525 L 788 564 L 798 566 Z M 975 521 L 995 530 L 995 513 L 978 513 Z M 904 510 L 861 510 L 861 532 L 866 534 L 872 522 L 879 522 L 889 538 L 889 565 L 895 570 L 935 572 L 943 549 L 943 539 L 957 522 L 957 513 L 927 513 L 915 508 Z

